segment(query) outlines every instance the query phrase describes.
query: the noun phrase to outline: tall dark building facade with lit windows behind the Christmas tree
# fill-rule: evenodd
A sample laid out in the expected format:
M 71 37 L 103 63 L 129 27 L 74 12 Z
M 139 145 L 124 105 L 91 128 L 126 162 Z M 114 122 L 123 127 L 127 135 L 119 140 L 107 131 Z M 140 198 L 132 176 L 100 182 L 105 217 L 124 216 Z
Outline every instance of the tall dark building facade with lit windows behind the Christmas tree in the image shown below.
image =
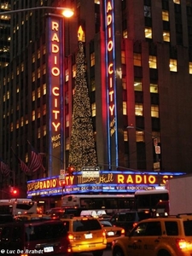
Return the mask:
M 13 172 L 1 177 L 2 186 L 6 180 L 25 191 L 27 180 L 59 175 L 68 165 L 79 26 L 98 166 L 189 173 L 191 1 L 11 1 L 11 9 L 42 5 L 73 7 L 75 15 L 63 20 L 37 9 L 11 16 L 11 58 L 0 80 L 0 155 Z M 51 35 L 58 38 L 57 53 Z M 53 115 L 55 101 L 60 116 Z M 57 118 L 61 130 L 54 132 Z M 20 170 L 11 148 L 27 165 L 30 145 L 44 155 L 45 172 Z

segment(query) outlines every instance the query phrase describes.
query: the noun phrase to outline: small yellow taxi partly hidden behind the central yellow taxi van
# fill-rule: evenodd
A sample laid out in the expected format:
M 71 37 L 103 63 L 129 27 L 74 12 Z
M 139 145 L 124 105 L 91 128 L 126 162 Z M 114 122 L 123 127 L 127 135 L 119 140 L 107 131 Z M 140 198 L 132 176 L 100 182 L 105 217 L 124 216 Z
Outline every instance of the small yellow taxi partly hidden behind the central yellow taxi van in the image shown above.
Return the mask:
M 121 227 L 116 227 L 105 219 L 100 219 L 100 223 L 106 232 L 107 243 L 110 246 L 115 238 L 125 236 L 125 230 Z

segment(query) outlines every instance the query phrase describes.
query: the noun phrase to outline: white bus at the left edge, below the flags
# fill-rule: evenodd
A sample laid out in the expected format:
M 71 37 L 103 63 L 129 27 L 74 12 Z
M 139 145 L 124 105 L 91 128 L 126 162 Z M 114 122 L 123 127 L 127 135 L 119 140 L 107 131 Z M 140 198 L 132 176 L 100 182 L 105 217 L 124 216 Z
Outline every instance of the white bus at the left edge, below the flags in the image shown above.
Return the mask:
M 37 213 L 36 201 L 26 198 L 0 200 L 0 214 L 11 214 L 15 216 L 26 213 Z

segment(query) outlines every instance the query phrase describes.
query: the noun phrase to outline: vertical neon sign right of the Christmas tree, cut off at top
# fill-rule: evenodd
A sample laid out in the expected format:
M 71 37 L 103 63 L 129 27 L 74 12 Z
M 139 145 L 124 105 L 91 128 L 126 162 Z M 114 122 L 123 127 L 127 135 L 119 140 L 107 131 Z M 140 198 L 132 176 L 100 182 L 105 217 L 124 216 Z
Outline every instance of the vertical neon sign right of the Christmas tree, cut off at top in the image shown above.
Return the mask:
M 106 71 L 108 96 L 108 162 L 118 166 L 117 103 L 115 78 L 114 1 L 106 0 L 104 5 Z

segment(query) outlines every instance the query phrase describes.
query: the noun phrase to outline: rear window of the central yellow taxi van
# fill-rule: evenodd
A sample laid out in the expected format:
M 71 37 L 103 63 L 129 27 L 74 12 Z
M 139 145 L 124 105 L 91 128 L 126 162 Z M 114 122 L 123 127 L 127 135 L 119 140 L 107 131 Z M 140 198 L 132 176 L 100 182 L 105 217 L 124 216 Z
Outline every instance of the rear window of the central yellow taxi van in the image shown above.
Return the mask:
M 81 219 L 73 222 L 73 231 L 101 230 L 101 225 L 96 219 Z

